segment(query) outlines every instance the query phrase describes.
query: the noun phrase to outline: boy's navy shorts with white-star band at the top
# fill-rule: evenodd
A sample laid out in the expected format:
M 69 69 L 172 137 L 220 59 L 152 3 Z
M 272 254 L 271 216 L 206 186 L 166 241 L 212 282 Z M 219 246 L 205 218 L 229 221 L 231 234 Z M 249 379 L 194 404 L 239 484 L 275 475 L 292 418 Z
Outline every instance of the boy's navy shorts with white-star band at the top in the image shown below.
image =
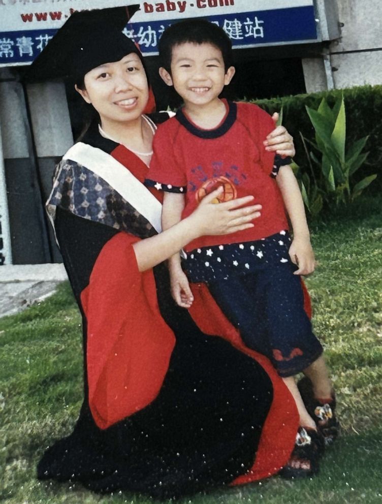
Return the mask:
M 289 246 L 288 232 L 281 231 L 256 242 L 193 250 L 184 263 L 190 281 L 207 283 L 244 343 L 266 355 L 280 376 L 297 374 L 323 352 Z

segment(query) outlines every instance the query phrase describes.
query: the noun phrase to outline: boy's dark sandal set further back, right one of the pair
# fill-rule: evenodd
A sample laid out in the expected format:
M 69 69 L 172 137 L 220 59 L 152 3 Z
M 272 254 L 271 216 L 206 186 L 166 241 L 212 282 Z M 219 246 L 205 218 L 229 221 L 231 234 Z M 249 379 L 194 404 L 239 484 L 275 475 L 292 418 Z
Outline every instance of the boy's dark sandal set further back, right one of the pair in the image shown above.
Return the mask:
M 297 384 L 302 400 L 317 429 L 324 437 L 325 445 L 332 445 L 338 437 L 340 425 L 335 415 L 336 397 L 332 392 L 331 400 L 322 402 L 313 395 L 312 382 L 304 376 Z

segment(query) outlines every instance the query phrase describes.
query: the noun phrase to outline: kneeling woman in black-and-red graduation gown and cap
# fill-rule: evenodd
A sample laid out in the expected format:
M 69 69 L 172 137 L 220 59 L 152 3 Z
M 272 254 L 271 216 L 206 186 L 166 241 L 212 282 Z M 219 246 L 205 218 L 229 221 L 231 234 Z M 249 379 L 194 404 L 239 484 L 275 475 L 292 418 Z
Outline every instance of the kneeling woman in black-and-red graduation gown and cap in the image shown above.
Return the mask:
M 213 205 L 215 192 L 158 234 L 161 204 L 142 182 L 154 121 L 167 114 L 142 115 L 141 55 L 106 20 L 73 15 L 33 69 L 56 76 L 64 43 L 76 89 L 100 117 L 63 156 L 47 203 L 83 317 L 85 399 L 38 477 L 158 498 L 267 477 L 295 443 L 292 397 L 207 292 L 196 293 L 194 319 L 175 306 L 163 264 L 197 236 L 252 226 L 259 207 L 250 197 Z

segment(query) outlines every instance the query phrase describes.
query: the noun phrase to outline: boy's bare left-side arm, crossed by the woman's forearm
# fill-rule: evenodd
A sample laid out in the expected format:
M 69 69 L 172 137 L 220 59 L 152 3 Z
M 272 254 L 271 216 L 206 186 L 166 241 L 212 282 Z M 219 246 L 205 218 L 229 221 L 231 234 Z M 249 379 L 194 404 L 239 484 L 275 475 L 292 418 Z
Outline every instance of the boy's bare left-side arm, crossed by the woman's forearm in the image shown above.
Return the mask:
M 184 208 L 184 195 L 178 193 L 164 193 L 162 209 L 162 228 L 171 228 L 181 220 Z M 182 308 L 189 308 L 194 296 L 180 264 L 179 252 L 168 259 L 170 271 L 171 294 L 175 302 Z

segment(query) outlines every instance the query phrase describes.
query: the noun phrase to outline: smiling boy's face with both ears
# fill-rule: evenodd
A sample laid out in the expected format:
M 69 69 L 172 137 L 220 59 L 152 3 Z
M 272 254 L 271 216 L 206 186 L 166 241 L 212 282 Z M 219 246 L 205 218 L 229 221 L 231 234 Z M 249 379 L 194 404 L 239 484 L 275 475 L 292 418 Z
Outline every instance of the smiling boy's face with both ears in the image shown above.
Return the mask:
M 203 106 L 218 98 L 235 69 L 225 71 L 221 51 L 214 45 L 185 42 L 172 49 L 171 75 L 163 67 L 159 73 L 168 86 L 174 86 L 186 106 Z

